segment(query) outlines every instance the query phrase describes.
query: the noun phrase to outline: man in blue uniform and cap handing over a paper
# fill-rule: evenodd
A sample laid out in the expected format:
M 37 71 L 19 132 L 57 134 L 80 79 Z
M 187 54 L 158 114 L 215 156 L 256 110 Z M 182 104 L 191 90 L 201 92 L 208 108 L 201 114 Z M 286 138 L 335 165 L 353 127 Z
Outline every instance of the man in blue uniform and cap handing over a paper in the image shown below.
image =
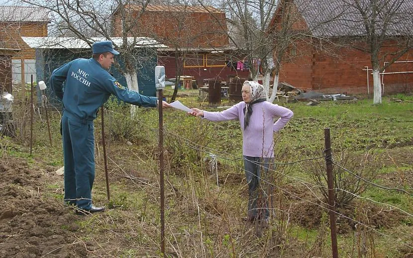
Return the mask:
M 95 138 L 93 121 L 110 94 L 122 101 L 156 107 L 158 99 L 140 95 L 123 87 L 108 72 L 114 55 L 111 41 L 92 45 L 91 59 L 75 59 L 53 71 L 50 86 L 63 101 L 62 138 L 65 166 L 65 202 L 86 212 L 103 211 L 92 204 L 95 179 Z M 169 107 L 165 101 L 163 108 Z

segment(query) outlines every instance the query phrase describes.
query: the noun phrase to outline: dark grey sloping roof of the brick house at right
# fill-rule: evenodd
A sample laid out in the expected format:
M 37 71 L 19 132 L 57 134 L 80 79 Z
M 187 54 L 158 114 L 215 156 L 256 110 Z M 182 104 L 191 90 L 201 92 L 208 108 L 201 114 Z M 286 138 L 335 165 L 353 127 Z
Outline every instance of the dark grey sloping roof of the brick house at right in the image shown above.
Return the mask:
M 297 11 L 305 20 L 310 33 L 317 37 L 336 36 L 363 36 L 366 28 L 360 11 L 345 0 L 291 0 L 295 3 Z M 369 11 L 370 0 L 361 0 L 364 10 L 371 17 Z M 413 12 L 413 0 L 388 0 L 389 5 L 400 6 L 394 10 L 389 17 L 376 17 L 376 30 L 383 27 L 384 20 L 388 21 L 387 36 L 412 35 L 413 19 L 407 14 Z M 394 5 L 392 5 L 394 4 Z M 278 13 L 278 9 L 276 14 Z M 384 15 L 386 12 L 381 9 Z M 274 18 L 272 20 L 274 22 Z M 380 31 L 378 34 L 381 33 Z

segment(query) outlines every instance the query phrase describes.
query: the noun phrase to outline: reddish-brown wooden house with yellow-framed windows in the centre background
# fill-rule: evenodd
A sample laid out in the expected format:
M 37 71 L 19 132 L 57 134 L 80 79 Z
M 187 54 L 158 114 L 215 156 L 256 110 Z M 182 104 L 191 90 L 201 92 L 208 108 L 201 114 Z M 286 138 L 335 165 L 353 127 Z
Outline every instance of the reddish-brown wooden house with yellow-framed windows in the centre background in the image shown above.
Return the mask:
M 229 43 L 222 10 L 212 6 L 148 5 L 142 8 L 128 4 L 122 11 L 116 9 L 112 16 L 114 36 L 121 36 L 130 26 L 128 36 L 151 37 L 168 46 L 158 50 L 158 64 L 165 66 L 167 78 L 192 76 L 200 85 L 209 78 L 248 77 L 248 70 L 236 67 L 242 54 Z

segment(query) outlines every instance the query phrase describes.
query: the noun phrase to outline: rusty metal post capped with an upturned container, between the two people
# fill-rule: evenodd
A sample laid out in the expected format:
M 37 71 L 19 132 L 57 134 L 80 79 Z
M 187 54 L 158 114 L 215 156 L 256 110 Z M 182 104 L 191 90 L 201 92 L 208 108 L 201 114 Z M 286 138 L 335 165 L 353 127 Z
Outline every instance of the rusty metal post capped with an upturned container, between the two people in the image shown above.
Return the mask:
M 163 131 L 163 110 L 162 110 L 162 89 L 158 90 L 158 110 L 159 110 L 159 175 L 161 192 L 161 253 L 165 256 L 165 193 L 164 193 L 164 131 Z

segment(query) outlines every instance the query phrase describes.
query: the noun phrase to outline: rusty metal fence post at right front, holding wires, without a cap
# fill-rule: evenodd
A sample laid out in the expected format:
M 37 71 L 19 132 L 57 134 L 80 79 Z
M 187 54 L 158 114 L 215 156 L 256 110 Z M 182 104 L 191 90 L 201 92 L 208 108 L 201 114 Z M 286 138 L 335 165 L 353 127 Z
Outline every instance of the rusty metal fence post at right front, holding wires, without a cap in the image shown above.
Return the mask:
M 331 154 L 331 141 L 330 141 L 330 128 L 324 128 L 324 158 L 325 166 L 327 170 L 327 186 L 328 186 L 328 206 L 330 215 L 330 231 L 331 231 L 331 250 L 333 258 L 338 258 L 337 249 L 337 232 L 335 227 L 335 198 L 334 198 L 334 175 L 332 167 L 332 154 Z

